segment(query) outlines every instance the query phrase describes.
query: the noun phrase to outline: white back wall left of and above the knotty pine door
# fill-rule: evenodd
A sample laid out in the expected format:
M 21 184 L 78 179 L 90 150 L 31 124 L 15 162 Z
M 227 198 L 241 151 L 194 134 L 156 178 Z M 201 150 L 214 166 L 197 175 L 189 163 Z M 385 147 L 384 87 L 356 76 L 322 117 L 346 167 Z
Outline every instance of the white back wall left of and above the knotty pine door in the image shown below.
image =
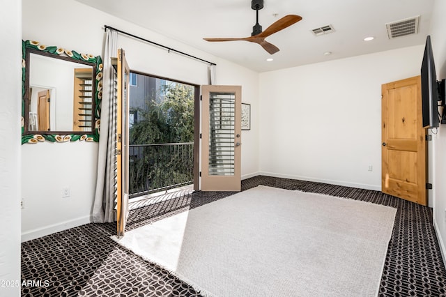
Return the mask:
M 381 84 L 420 75 L 423 50 L 261 73 L 260 171 L 380 190 Z

